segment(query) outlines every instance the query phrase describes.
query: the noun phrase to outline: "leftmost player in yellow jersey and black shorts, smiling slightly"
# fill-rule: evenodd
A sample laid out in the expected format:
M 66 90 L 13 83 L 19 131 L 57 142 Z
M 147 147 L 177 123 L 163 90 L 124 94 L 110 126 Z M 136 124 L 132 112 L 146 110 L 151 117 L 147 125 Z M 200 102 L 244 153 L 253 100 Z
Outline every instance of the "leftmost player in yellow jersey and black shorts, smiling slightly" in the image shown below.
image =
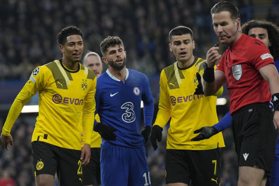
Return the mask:
M 32 72 L 10 108 L 0 137 L 8 149 L 15 120 L 25 103 L 39 92 L 39 115 L 31 140 L 37 186 L 53 186 L 56 171 L 61 186 L 81 185 L 82 165 L 90 160 L 96 76 L 79 63 L 83 52 L 79 28 L 63 28 L 57 41 L 63 58 Z M 82 125 L 78 125 L 81 115 Z

